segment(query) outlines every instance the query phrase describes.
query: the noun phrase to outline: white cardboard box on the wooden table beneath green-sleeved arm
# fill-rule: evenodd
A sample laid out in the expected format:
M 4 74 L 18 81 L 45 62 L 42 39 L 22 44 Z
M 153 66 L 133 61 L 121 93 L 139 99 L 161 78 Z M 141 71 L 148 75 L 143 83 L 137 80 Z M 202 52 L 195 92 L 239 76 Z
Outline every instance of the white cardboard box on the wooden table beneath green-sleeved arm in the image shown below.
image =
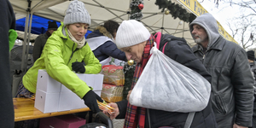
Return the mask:
M 76 74 L 79 79 L 91 86 L 98 96 L 101 96 L 102 74 Z M 67 89 L 65 85 L 52 79 L 45 70 L 39 70 L 35 108 L 43 113 L 52 113 L 87 108 L 87 106 L 84 105 L 84 100 Z

